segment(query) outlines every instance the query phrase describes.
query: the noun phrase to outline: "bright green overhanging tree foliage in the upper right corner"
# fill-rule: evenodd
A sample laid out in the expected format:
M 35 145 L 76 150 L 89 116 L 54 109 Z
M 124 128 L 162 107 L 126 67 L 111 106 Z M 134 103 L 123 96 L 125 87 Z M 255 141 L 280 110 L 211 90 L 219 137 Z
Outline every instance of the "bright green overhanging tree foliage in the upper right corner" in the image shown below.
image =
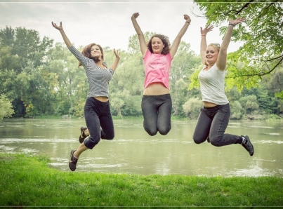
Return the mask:
M 256 87 L 262 76 L 271 74 L 282 65 L 282 3 L 237 1 L 223 4 L 199 0 L 195 2 L 207 18 L 207 24 L 217 27 L 222 25 L 222 36 L 227 29 L 229 18 L 246 17 L 245 23 L 237 25 L 233 30 L 232 41 L 242 41 L 243 46 L 228 55 L 228 85 L 237 85 L 238 90 L 242 90 L 243 86 Z

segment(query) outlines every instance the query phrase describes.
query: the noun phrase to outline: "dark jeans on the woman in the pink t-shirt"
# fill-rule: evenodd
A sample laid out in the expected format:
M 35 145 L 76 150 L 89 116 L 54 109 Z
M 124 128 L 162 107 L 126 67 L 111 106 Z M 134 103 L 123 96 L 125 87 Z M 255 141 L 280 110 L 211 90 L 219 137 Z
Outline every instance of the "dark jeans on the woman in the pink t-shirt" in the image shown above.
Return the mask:
M 143 111 L 143 128 L 149 135 L 157 131 L 166 135 L 171 130 L 172 100 L 170 94 L 143 95 L 141 108 Z

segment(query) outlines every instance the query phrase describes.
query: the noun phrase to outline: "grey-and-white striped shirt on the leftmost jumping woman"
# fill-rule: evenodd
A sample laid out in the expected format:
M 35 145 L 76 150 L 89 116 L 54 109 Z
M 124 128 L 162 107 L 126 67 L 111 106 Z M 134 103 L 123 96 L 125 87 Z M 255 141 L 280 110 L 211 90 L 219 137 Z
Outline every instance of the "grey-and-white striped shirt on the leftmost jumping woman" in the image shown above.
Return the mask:
M 114 74 L 114 70 L 106 67 L 103 69 L 96 65 L 96 62 L 86 58 L 74 46 L 70 46 L 71 53 L 81 62 L 81 65 L 86 70 L 88 78 L 88 97 L 108 97 L 108 84 Z M 103 62 L 105 65 L 106 63 Z M 107 65 L 106 65 L 107 66 Z

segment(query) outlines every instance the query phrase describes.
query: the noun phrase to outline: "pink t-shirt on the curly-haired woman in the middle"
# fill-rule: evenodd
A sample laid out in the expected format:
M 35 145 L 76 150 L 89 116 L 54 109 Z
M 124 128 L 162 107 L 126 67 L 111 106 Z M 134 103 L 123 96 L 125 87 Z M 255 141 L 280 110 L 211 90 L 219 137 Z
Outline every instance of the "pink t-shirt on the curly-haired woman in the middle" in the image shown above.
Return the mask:
M 144 88 L 151 83 L 161 82 L 169 88 L 169 72 L 172 63 L 171 54 L 166 55 L 153 54 L 147 49 L 143 64 L 145 65 L 145 84 Z

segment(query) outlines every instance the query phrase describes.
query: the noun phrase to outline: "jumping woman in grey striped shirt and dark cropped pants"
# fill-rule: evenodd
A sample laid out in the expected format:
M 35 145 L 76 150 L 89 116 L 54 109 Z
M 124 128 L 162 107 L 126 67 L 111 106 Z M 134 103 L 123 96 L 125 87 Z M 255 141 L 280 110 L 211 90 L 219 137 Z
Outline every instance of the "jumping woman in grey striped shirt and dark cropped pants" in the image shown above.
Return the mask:
M 101 139 L 112 140 L 114 138 L 114 126 L 110 113 L 110 103 L 108 100 L 108 83 L 114 74 L 119 62 L 119 52 L 114 49 L 114 60 L 111 67 L 107 67 L 104 62 L 103 48 L 96 44 L 88 44 L 80 53 L 72 46 L 67 38 L 62 22 L 60 26 L 52 22 L 53 27 L 58 29 L 62 35 L 67 48 L 79 60 L 79 67 L 83 66 L 88 78 L 88 97 L 84 106 L 84 117 L 88 128 L 89 137 L 81 143 L 77 150 L 72 150 L 70 154 L 69 167 L 76 170 L 77 161 L 83 151 L 93 149 Z

